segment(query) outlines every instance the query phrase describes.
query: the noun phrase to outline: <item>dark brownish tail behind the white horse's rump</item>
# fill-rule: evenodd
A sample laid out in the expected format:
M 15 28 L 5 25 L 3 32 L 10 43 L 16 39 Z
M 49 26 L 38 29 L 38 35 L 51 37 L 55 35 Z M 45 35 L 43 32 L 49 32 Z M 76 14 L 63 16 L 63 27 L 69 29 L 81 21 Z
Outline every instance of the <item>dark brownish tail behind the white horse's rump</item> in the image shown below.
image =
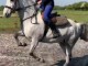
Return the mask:
M 80 38 L 88 42 L 88 24 L 81 24 Z

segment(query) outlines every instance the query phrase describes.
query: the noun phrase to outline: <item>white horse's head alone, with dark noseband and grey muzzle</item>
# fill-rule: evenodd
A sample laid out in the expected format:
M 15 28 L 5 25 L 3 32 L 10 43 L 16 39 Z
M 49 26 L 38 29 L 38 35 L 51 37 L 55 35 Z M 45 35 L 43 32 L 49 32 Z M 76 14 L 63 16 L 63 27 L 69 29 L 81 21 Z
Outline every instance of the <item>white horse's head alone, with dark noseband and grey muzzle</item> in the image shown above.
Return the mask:
M 3 15 L 10 18 L 11 13 L 15 11 L 18 0 L 7 0 L 4 6 Z

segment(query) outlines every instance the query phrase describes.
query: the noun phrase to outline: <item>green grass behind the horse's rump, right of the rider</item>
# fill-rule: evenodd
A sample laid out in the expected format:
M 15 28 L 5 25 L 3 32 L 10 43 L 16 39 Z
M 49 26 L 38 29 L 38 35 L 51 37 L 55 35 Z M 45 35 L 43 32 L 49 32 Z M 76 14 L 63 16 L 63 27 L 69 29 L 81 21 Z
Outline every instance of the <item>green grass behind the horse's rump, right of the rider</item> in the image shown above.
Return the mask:
M 88 11 L 58 10 L 57 12 L 78 22 L 88 22 Z

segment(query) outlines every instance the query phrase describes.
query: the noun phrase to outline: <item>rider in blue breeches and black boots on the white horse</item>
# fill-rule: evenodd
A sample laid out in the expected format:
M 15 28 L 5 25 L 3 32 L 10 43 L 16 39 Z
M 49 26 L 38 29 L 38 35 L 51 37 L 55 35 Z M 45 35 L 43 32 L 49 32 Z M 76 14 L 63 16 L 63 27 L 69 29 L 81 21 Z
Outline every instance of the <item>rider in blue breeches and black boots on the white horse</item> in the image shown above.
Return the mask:
M 44 23 L 51 28 L 53 35 L 54 35 L 53 37 L 54 38 L 58 37 L 59 32 L 51 20 L 51 13 L 54 8 L 54 0 L 37 0 L 37 3 L 41 4 Z

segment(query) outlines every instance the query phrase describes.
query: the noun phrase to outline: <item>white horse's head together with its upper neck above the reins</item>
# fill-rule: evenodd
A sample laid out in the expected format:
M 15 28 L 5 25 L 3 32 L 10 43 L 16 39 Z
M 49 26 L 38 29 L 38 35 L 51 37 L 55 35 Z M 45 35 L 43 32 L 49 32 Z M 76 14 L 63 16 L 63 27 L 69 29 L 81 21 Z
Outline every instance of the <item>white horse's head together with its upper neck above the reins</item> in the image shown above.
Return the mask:
M 10 18 L 11 13 L 15 11 L 23 11 L 26 8 L 34 8 L 36 0 L 7 0 L 4 6 L 3 15 Z M 31 9 L 33 10 L 33 9 Z

